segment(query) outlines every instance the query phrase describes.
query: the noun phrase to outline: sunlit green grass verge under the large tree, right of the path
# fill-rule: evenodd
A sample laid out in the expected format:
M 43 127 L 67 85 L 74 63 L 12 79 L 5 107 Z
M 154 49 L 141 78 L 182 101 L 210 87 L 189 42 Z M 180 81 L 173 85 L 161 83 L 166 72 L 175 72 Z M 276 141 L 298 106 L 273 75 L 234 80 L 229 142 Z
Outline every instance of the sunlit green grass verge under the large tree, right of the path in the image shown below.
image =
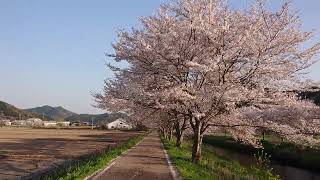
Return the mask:
M 183 180 L 279 179 L 268 170 L 244 167 L 236 161 L 220 157 L 209 146 L 202 147 L 201 163 L 193 164 L 190 159 L 191 143 L 184 143 L 182 148 L 177 148 L 172 141 L 162 138 L 162 142 Z

